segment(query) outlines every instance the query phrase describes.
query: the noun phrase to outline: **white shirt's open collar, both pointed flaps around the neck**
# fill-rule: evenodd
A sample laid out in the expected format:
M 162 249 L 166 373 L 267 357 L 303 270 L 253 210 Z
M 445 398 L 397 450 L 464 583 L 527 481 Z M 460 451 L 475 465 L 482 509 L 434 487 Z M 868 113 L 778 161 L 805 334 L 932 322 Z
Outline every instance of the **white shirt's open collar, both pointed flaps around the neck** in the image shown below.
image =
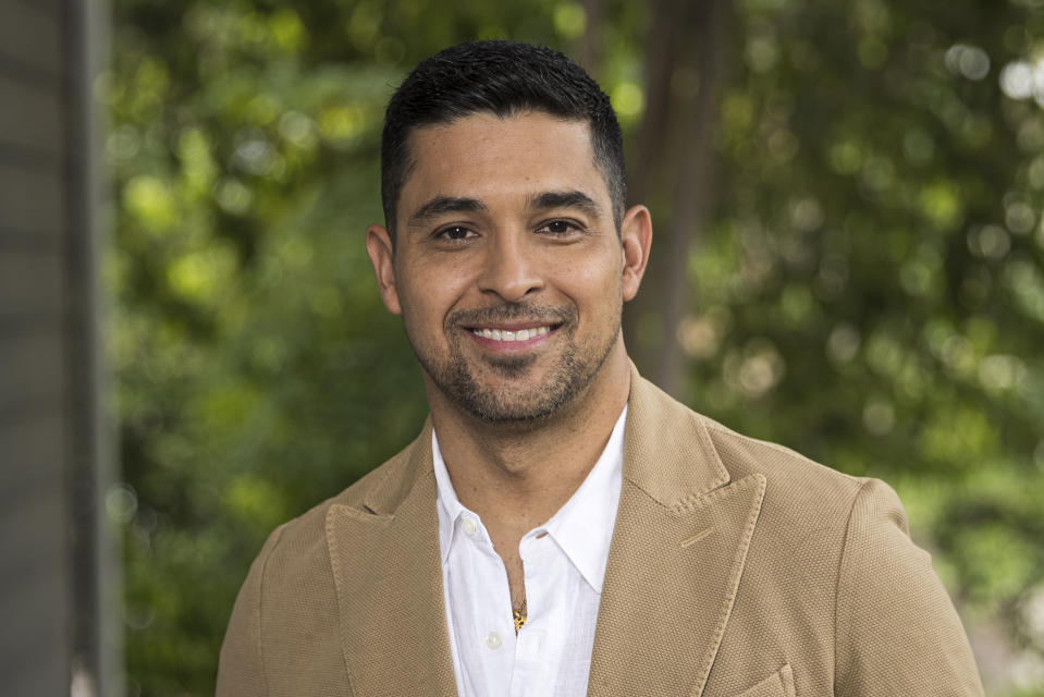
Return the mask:
M 610 433 L 609 442 L 598 461 L 569 500 L 545 524 L 527 534 L 537 536 L 548 533 L 569 558 L 577 571 L 595 592 L 602 592 L 605 563 L 613 539 L 613 525 L 619 505 L 624 467 L 624 424 L 627 421 L 627 405 L 621 412 Z M 453 529 L 465 513 L 478 516 L 464 508 L 457 499 L 445 461 L 439 449 L 439 438 L 431 430 L 431 454 L 438 486 L 439 546 L 442 563 L 446 563 L 453 541 Z

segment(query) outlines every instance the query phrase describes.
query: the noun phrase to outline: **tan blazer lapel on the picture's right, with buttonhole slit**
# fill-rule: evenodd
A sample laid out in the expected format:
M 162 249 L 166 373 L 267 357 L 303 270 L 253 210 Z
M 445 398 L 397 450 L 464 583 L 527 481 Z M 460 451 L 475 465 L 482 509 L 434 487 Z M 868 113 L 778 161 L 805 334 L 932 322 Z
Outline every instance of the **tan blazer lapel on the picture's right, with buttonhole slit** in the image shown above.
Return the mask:
M 765 479 L 729 481 L 701 418 L 637 372 L 629 404 L 588 695 L 700 695 Z

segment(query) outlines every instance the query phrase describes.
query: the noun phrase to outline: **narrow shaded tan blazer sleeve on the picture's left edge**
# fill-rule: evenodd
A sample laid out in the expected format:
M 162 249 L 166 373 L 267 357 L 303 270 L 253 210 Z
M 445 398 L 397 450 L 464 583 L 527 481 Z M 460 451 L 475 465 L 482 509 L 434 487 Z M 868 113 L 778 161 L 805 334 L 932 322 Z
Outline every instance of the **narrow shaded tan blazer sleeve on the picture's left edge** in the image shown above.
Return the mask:
M 261 600 L 265 572 L 282 527 L 266 540 L 239 588 L 232 617 L 221 644 L 217 697 L 263 697 L 268 695 L 261 651 Z

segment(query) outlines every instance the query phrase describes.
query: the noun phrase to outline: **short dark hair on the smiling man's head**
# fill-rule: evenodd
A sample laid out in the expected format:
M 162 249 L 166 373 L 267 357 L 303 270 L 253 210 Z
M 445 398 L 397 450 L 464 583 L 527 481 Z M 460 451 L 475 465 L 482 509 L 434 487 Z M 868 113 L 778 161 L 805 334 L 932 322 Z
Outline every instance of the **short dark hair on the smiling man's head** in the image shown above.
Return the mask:
M 392 95 L 381 135 L 381 201 L 394 244 L 395 206 L 412 167 L 414 129 L 479 112 L 506 118 L 543 111 L 584 121 L 594 161 L 619 229 L 627 185 L 624 144 L 609 97 L 582 68 L 558 51 L 518 41 L 470 41 L 439 51 L 414 69 Z

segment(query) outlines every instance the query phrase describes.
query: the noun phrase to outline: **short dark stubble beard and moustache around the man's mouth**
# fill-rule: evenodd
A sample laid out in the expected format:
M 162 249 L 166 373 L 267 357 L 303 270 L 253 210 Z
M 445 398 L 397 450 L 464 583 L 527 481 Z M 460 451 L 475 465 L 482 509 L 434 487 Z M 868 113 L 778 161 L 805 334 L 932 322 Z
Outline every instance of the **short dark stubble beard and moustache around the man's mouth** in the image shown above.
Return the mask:
M 483 383 L 477 376 L 476 359 L 465 357 L 462 344 L 467 338 L 460 328 L 511 321 L 538 321 L 556 327 L 556 332 L 564 332 L 556 338 L 556 355 L 483 356 L 477 360 L 492 372 L 492 380 Z M 575 307 L 505 303 L 491 308 L 451 313 L 444 325 L 445 335 L 450 338 L 449 355 L 441 362 L 423 351 L 408 330 L 406 335 L 421 367 L 454 404 L 487 423 L 524 424 L 552 416 L 591 383 L 619 335 L 619 314 L 609 331 L 592 339 L 591 346 L 577 345 L 576 329 Z M 539 384 L 525 384 L 523 380 L 530 368 L 538 360 L 548 358 L 553 365 L 545 379 Z

